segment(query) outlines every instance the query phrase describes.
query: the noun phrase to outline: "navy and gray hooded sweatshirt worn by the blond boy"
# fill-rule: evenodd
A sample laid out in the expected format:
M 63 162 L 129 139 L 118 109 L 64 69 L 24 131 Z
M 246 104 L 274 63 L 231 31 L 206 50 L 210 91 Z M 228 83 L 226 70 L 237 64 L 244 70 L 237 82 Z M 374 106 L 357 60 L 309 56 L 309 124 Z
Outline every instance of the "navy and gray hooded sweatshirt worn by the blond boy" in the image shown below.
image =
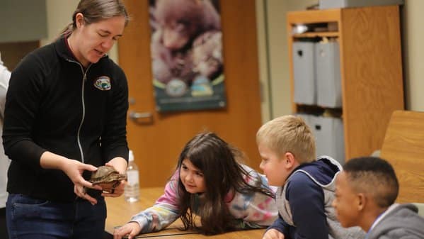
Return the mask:
M 331 206 L 341 165 L 331 157 L 299 165 L 276 194 L 279 218 L 270 228 L 287 239 L 365 238 L 359 227 L 343 228 Z

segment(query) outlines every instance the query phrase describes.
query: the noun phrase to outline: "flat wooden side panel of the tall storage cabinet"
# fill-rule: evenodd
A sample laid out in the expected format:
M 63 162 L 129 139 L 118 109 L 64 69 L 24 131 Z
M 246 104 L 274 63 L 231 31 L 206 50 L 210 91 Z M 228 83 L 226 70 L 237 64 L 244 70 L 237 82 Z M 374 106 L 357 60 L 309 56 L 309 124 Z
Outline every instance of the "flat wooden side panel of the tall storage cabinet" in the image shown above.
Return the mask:
M 404 107 L 399 6 L 343 9 L 340 32 L 346 155 L 370 155 Z

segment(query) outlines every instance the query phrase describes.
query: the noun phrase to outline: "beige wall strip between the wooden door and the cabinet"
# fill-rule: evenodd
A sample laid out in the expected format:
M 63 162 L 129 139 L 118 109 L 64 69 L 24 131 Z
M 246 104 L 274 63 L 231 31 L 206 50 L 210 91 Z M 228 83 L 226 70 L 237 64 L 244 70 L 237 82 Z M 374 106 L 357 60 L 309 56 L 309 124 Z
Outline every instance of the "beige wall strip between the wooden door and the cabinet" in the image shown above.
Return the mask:
M 266 87 L 263 92 L 268 93 L 264 96 L 268 101 L 263 102 L 263 122 L 292 113 L 287 11 L 306 9 L 316 3 L 316 0 L 256 0 L 260 79 Z

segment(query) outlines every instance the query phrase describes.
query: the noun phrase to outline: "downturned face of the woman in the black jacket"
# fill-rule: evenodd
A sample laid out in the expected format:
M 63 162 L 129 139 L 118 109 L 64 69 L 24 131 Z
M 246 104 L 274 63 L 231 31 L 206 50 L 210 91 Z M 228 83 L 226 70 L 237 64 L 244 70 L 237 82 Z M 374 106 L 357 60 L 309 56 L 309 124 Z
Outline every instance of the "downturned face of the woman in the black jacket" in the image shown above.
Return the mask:
M 114 16 L 96 23 L 88 24 L 81 13 L 76 15 L 77 30 L 75 44 L 70 45 L 72 52 L 84 66 L 96 63 L 122 36 L 125 17 Z M 71 35 L 71 36 L 72 36 Z

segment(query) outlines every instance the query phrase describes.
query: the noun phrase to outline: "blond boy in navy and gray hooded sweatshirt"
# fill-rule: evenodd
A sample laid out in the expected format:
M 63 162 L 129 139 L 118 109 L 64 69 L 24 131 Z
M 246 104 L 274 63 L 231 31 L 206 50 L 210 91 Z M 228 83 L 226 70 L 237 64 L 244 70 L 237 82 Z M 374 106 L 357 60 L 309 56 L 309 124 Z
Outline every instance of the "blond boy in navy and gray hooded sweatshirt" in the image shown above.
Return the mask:
M 360 228 L 343 228 L 331 207 L 334 179 L 341 171 L 331 157 L 315 159 L 310 128 L 297 116 L 265 123 L 256 134 L 263 169 L 270 185 L 278 186 L 279 218 L 264 239 L 364 238 Z

